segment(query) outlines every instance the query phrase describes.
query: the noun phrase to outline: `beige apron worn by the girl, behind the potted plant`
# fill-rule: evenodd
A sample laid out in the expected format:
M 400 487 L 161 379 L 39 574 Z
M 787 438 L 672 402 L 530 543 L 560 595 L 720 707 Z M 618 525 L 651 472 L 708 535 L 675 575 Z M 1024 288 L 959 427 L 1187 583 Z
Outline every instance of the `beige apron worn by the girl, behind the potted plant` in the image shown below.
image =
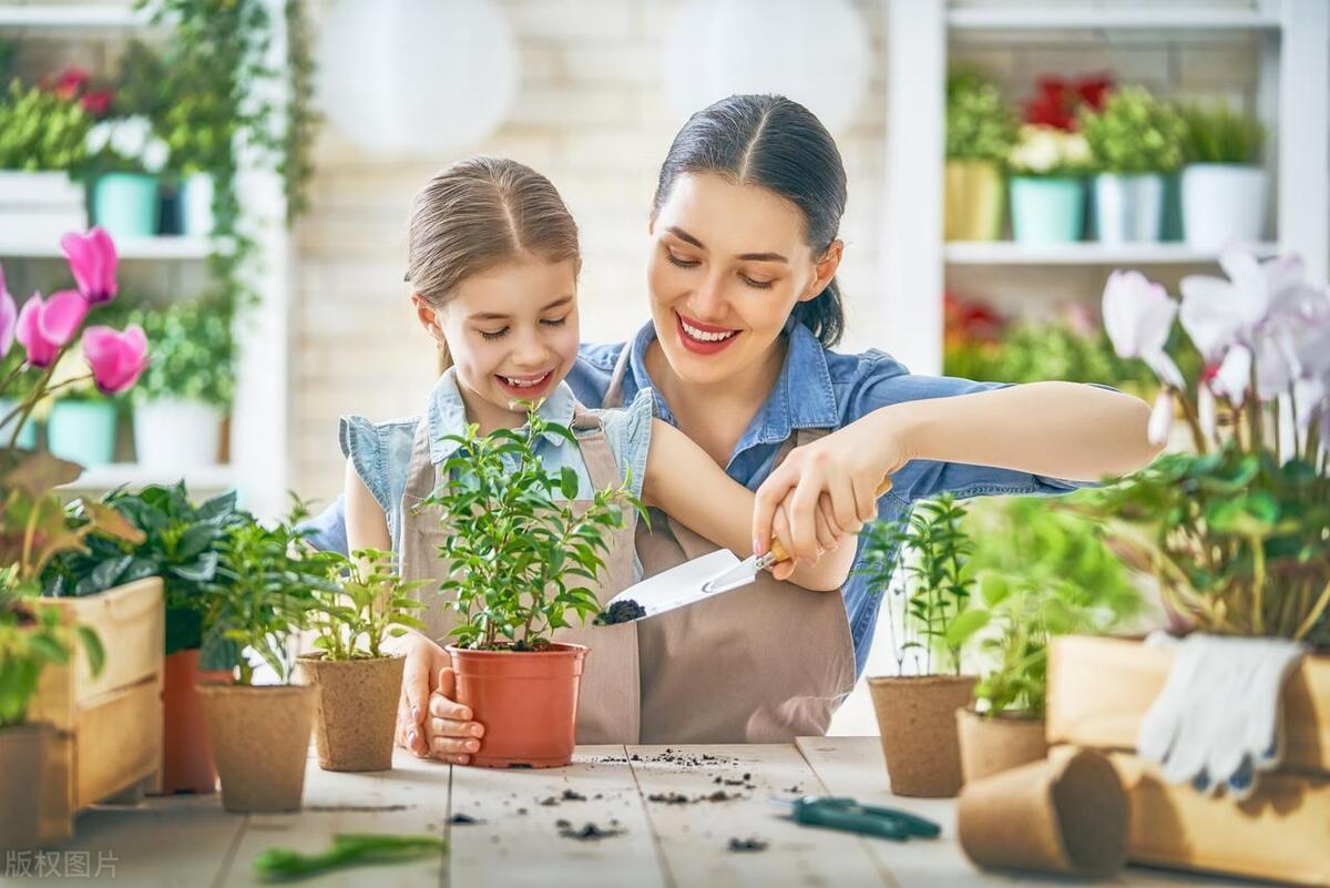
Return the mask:
M 416 425 L 415 444 L 411 449 L 411 463 L 407 468 L 406 492 L 402 496 L 400 564 L 407 580 L 436 578 L 447 573 L 447 562 L 439 556 L 439 545 L 444 532 L 439 526 L 436 506 L 418 509 L 428 497 L 439 479 L 430 461 L 430 423 L 420 417 Z M 621 475 L 609 449 L 609 440 L 600 427 L 595 413 L 580 404 L 573 413 L 573 433 L 581 449 L 592 487 L 602 491 L 618 487 Z M 575 500 L 573 509 L 585 510 L 591 500 Z M 609 552 L 600 582 L 592 586 L 596 598 L 604 605 L 617 592 L 633 582 L 633 528 L 636 513 L 624 510 L 625 526 L 614 530 L 609 538 Z M 428 635 L 440 645 L 450 643 L 446 635 L 458 623 L 458 614 L 446 606 L 444 598 L 432 586 L 424 586 L 414 593 L 427 602 L 423 611 Z M 634 743 L 638 736 L 638 679 L 637 679 L 637 623 L 617 626 L 581 626 L 576 615 L 575 623 L 556 629 L 551 637 L 561 642 L 587 645 L 587 655 L 581 689 L 577 702 L 577 742 L 579 743 Z

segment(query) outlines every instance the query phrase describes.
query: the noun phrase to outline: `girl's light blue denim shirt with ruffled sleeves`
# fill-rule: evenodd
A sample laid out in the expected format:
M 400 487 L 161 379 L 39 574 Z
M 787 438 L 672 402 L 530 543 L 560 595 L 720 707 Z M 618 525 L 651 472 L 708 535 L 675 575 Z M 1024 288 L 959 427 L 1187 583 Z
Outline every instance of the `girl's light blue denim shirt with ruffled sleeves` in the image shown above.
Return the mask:
M 600 401 L 596 404 L 598 405 Z M 650 448 L 652 395 L 644 389 L 625 404 L 624 409 L 593 409 L 592 412 L 600 416 L 620 476 L 629 480 L 633 496 L 640 497 L 642 476 L 646 472 L 646 453 Z M 573 391 L 567 382 L 563 382 L 549 393 L 537 412 L 551 423 L 569 427 L 573 421 L 575 407 Z M 439 465 L 458 449 L 456 441 L 443 439 L 448 435 L 462 435 L 467 428 L 467 408 L 462 400 L 462 392 L 458 391 L 456 368 L 448 368 L 434 384 L 424 416 L 430 423 L 430 461 Z M 407 485 L 407 468 L 419 423 L 419 416 L 387 423 L 372 423 L 363 416 L 343 416 L 338 423 L 342 453 L 351 460 L 356 475 L 364 481 L 364 487 L 387 516 L 388 536 L 392 538 L 394 550 L 400 549 L 402 495 Z M 547 432 L 536 443 L 536 456 L 548 471 L 557 472 L 567 465 L 577 473 L 576 499 L 589 500 L 595 495 L 591 473 L 583 460 L 581 451 L 567 439 Z M 340 505 L 339 499 L 336 506 L 340 508 Z M 335 544 L 335 536 L 330 540 L 326 537 L 327 528 L 318 528 L 318 525 L 325 524 L 325 516 L 319 516 L 318 524 L 314 525 L 315 529 L 323 532 L 314 538 L 315 545 L 344 550 L 344 516 L 336 516 L 343 522 L 340 546 L 329 545 L 330 542 Z

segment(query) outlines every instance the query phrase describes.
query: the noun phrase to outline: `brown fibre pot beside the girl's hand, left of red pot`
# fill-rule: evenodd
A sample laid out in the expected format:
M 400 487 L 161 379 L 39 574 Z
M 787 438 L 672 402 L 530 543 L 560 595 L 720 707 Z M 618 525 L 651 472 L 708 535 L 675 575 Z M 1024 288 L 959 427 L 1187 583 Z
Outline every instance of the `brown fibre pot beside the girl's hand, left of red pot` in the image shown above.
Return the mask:
M 325 771 L 387 771 L 402 694 L 403 657 L 331 661 L 322 653 L 297 658 L 318 694 L 314 739 Z

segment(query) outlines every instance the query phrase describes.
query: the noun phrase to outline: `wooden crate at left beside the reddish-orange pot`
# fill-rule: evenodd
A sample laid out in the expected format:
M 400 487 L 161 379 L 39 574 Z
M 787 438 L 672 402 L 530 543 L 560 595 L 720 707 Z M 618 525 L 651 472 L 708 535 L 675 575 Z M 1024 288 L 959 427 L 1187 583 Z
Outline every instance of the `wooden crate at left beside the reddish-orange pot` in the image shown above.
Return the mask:
M 90 626 L 106 649 L 93 677 L 86 653 L 43 670 L 29 721 L 56 728 L 47 756 L 43 841 L 73 835 L 88 806 L 154 787 L 161 778 L 165 605 L 160 578 L 85 598 L 55 598 L 68 626 Z

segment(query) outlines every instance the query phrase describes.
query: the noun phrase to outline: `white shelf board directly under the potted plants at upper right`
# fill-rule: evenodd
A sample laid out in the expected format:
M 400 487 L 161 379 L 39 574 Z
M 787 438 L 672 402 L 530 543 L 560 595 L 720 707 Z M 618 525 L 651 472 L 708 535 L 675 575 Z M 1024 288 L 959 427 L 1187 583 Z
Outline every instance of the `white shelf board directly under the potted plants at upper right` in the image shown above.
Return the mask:
M 1252 245 L 1261 257 L 1275 255 L 1275 243 Z M 1023 245 L 1012 241 L 951 241 L 943 245 L 947 265 L 980 266 L 1107 266 L 1107 265 L 1209 265 L 1218 254 L 1193 250 L 1185 243 L 1081 243 Z

